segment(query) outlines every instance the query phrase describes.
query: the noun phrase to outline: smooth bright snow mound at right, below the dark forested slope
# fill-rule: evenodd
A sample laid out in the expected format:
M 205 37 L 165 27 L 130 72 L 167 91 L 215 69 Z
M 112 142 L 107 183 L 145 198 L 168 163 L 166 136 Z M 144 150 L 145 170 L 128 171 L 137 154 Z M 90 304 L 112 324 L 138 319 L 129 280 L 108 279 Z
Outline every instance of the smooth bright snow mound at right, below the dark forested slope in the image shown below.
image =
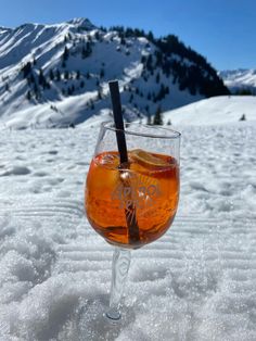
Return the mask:
M 240 121 L 256 121 L 256 97 L 219 96 L 201 100 L 192 104 L 163 114 L 165 123 L 188 125 L 219 125 Z

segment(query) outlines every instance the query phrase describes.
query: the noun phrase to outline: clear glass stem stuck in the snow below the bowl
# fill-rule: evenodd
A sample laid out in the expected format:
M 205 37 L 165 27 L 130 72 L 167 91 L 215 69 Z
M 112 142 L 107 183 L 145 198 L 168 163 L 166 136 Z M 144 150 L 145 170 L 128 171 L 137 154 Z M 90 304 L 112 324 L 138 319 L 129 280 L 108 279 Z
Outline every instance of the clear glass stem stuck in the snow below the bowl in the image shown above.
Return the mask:
M 120 319 L 120 300 L 130 266 L 130 250 L 115 248 L 112 263 L 112 285 L 110 310 L 106 316 L 112 320 Z

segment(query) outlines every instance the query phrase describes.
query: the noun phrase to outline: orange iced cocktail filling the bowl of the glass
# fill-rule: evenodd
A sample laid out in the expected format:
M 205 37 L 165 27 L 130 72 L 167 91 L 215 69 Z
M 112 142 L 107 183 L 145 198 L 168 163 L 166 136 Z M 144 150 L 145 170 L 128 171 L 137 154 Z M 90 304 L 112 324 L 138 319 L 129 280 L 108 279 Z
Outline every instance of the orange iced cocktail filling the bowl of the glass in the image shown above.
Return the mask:
M 179 199 L 179 165 L 175 157 L 142 149 L 128 151 L 119 166 L 116 151 L 97 154 L 86 185 L 91 226 L 110 243 L 140 248 L 170 226 Z

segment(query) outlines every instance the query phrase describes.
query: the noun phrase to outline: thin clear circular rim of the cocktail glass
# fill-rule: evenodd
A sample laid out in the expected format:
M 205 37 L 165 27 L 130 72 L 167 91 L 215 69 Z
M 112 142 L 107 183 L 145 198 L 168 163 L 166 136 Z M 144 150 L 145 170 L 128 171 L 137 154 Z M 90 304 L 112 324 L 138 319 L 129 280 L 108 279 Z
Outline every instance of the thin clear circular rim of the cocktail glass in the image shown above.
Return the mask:
M 177 130 L 167 128 L 167 127 L 163 127 L 163 126 L 155 126 L 155 125 L 148 125 L 148 124 L 143 124 L 143 123 L 139 123 L 139 122 L 126 122 L 124 123 L 124 125 L 130 125 L 132 123 L 138 124 L 138 126 L 148 128 L 148 129 L 152 129 L 152 130 L 164 130 L 166 132 L 169 132 L 169 135 L 164 135 L 161 134 L 161 131 L 158 131 L 158 134 L 150 134 L 150 132 L 140 132 L 140 131 L 135 131 L 135 130 L 129 130 L 129 129 L 124 129 L 125 135 L 133 135 L 133 136 L 142 136 L 142 137 L 149 137 L 149 138 L 161 138 L 161 139 L 169 139 L 169 140 L 176 140 L 179 139 L 181 134 Z M 113 126 L 111 126 L 113 125 Z M 112 130 L 112 131 L 123 131 L 121 129 L 117 129 L 115 126 L 114 121 L 104 121 L 101 123 L 101 126 L 107 130 Z

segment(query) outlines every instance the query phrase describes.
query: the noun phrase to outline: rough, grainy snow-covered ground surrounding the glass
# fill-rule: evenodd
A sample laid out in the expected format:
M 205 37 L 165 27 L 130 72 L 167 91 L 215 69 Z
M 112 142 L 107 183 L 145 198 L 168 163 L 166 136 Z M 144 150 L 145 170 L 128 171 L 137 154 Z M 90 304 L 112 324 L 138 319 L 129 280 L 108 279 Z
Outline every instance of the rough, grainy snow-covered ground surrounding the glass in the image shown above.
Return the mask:
M 0 340 L 256 340 L 255 121 L 176 127 L 179 212 L 133 252 L 116 326 L 112 248 L 84 216 L 98 126 L 1 131 Z

